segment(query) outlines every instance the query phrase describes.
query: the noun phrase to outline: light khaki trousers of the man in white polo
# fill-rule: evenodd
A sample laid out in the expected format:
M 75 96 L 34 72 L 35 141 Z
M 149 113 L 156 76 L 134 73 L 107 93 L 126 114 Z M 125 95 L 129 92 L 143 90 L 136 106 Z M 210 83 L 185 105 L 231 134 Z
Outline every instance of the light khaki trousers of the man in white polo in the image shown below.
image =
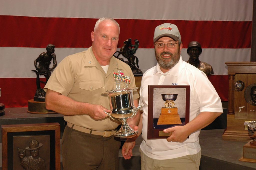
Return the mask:
M 201 152 L 173 159 L 156 160 L 141 152 L 141 170 L 199 170 Z

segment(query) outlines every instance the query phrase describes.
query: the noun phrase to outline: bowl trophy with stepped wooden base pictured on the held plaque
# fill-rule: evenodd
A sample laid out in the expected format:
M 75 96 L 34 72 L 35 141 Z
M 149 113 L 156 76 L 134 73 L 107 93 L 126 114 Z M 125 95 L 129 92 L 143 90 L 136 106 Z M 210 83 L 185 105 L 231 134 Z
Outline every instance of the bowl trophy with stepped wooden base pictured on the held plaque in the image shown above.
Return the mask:
M 178 114 L 178 108 L 174 107 L 174 101 L 177 99 L 178 94 L 161 94 L 162 99 L 165 101 L 165 107 L 161 108 L 161 114 L 158 118 L 157 125 L 161 124 L 181 124 Z

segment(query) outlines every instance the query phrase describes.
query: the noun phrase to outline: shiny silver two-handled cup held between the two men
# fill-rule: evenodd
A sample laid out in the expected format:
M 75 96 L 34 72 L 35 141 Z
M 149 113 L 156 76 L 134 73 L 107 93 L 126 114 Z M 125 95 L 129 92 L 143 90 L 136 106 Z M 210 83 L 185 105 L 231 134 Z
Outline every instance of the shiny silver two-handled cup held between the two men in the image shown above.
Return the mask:
M 109 96 L 111 110 L 111 114 L 106 111 L 105 113 L 109 118 L 120 121 L 122 124 L 120 130 L 114 134 L 115 137 L 127 137 L 138 133 L 137 130 L 132 129 L 127 124 L 127 119 L 135 116 L 137 111 L 143 107 L 138 106 L 135 108 L 133 104 L 132 92 L 137 88 L 138 87 L 124 88 L 103 92 L 103 94 L 107 94 Z

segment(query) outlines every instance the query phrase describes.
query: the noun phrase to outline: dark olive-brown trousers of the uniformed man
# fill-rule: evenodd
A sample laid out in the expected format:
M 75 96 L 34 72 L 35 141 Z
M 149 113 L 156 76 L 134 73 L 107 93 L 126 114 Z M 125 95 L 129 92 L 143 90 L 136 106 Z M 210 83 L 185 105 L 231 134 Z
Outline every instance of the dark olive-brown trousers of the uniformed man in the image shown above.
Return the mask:
M 120 139 L 92 135 L 65 127 L 62 136 L 64 170 L 118 170 Z

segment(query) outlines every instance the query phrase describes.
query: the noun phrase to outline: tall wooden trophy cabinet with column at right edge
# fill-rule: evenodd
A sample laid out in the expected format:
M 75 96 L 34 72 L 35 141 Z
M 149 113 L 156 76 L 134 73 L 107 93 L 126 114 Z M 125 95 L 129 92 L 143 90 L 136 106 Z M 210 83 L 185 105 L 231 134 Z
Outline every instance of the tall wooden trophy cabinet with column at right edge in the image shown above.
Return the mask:
M 228 66 L 229 96 L 227 128 L 222 139 L 250 141 L 251 136 L 243 124 L 245 121 L 256 120 L 256 106 L 247 102 L 245 94 L 247 96 L 249 93 L 247 87 L 256 84 L 256 62 L 226 62 L 225 64 Z M 244 82 L 243 90 L 235 90 L 234 85 L 237 81 Z

